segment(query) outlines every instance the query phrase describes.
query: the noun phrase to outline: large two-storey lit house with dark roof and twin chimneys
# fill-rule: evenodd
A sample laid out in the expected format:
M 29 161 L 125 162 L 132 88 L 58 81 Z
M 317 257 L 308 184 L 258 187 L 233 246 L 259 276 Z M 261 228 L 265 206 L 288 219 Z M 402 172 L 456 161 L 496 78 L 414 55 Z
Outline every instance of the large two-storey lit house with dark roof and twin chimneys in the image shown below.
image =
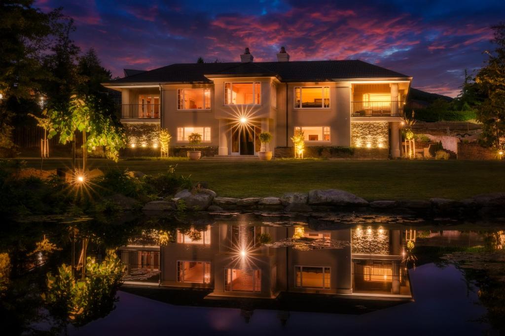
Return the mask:
M 342 146 L 399 157 L 400 123 L 412 77 L 361 60 L 290 61 L 284 47 L 274 62 L 181 63 L 125 71 L 103 85 L 121 91 L 121 121 L 130 148 L 158 147 L 160 127 L 171 146 L 192 132 L 219 155 L 255 155 L 292 147 L 296 129 L 306 146 Z

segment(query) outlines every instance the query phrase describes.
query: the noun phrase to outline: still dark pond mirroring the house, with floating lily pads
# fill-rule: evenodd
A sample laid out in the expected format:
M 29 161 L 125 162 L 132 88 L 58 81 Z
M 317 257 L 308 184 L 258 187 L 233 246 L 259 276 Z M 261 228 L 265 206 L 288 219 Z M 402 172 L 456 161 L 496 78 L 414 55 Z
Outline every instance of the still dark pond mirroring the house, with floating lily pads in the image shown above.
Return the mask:
M 504 330 L 501 222 L 229 213 L 12 224 L 2 233 L 9 271 L 0 270 L 0 293 L 16 333 Z M 83 275 L 86 257 L 95 268 Z M 121 280 L 103 280 L 114 262 Z M 63 283 L 62 263 L 76 279 L 63 306 L 66 292 L 47 290 L 49 272 Z

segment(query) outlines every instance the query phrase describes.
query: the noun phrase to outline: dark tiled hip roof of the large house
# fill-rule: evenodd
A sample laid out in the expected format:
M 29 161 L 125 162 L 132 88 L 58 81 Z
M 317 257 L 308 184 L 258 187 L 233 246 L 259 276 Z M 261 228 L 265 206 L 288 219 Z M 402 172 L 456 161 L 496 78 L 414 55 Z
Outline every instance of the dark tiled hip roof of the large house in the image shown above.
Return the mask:
M 208 77 L 277 77 L 281 82 L 324 82 L 351 79 L 411 79 L 411 77 L 361 60 L 289 62 L 178 63 L 133 74 L 109 83 L 212 83 Z

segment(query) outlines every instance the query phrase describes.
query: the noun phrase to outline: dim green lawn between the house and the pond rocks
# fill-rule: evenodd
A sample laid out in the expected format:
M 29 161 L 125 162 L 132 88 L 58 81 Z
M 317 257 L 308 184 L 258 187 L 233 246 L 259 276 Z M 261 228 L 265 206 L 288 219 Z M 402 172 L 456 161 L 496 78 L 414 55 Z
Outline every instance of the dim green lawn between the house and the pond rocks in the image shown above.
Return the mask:
M 163 172 L 177 164 L 176 172 L 191 180 L 207 181 L 219 196 L 280 196 L 284 192 L 337 188 L 368 200 L 464 199 L 487 192 L 505 191 L 505 162 L 499 161 L 249 161 L 90 159 L 90 168 Z M 27 160 L 40 168 L 40 159 Z M 70 160 L 45 160 L 43 169 L 69 167 Z

